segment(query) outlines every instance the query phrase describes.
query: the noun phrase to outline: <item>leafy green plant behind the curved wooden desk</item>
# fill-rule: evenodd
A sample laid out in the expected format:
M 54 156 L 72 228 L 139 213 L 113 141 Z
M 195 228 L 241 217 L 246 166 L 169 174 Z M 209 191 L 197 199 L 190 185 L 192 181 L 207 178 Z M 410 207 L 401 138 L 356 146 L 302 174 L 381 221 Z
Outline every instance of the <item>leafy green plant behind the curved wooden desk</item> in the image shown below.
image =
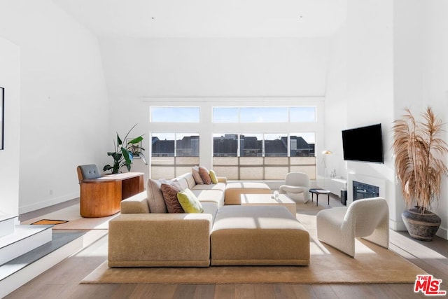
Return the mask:
M 123 166 L 126 166 L 127 171 L 130 171 L 134 156 L 137 155 L 141 157 L 146 164 L 145 156 L 143 155 L 143 153 L 141 153 L 141 151 L 144 151 L 144 148 L 141 148 L 139 146 L 140 142 L 143 140 L 143 135 L 140 135 L 139 137 L 134 139 L 127 138 L 136 125 L 134 125 L 131 130 L 127 132 L 124 143 L 117 133 L 117 139 L 116 141 L 113 141 L 113 145 L 115 146 L 116 150 L 107 153 L 107 155 L 113 158 L 113 165 L 104 165 L 104 172 L 111 170 L 111 174 L 118 174 Z

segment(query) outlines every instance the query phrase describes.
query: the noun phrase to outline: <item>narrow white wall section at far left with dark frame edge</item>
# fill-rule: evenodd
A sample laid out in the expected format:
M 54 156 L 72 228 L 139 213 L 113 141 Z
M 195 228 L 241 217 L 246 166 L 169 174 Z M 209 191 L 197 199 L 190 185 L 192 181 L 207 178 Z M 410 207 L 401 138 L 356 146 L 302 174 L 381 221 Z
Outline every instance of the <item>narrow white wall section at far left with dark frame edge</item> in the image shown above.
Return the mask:
M 0 214 L 19 215 L 20 49 L 0 36 L 0 87 L 5 90 L 0 151 Z

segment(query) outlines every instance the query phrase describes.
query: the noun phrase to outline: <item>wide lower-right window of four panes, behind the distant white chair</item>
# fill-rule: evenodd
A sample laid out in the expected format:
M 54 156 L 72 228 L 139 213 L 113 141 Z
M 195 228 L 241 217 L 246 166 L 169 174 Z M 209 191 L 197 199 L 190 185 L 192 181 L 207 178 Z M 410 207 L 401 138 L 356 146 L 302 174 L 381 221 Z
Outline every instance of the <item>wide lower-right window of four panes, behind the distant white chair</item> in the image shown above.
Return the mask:
M 214 134 L 213 167 L 228 179 L 279 180 L 288 172 L 315 179 L 314 133 Z

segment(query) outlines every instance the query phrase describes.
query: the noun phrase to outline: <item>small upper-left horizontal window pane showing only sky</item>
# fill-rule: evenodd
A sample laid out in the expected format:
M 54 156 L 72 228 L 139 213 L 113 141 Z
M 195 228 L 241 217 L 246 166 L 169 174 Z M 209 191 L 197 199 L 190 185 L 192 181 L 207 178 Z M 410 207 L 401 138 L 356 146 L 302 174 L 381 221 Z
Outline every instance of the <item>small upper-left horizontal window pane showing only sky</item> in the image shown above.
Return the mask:
M 199 123 L 199 107 L 151 107 L 152 123 Z

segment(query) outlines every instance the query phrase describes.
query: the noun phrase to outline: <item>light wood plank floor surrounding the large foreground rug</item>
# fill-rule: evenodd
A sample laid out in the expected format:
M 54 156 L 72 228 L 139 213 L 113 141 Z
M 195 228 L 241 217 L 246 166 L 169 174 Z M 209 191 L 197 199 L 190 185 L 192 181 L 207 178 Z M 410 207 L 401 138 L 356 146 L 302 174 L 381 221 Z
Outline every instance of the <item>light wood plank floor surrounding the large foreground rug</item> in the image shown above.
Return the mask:
M 326 200 L 319 204 L 326 204 Z M 340 204 L 332 198 L 330 205 Z M 41 212 L 45 214 L 45 210 Z M 414 284 L 79 284 L 106 260 L 104 246 L 106 237 L 66 258 L 6 298 L 426 298 L 422 293 L 414 293 Z M 441 289 L 448 291 L 447 240 L 436 237 L 433 242 L 417 242 L 407 232 L 391 231 L 390 248 L 442 279 Z

